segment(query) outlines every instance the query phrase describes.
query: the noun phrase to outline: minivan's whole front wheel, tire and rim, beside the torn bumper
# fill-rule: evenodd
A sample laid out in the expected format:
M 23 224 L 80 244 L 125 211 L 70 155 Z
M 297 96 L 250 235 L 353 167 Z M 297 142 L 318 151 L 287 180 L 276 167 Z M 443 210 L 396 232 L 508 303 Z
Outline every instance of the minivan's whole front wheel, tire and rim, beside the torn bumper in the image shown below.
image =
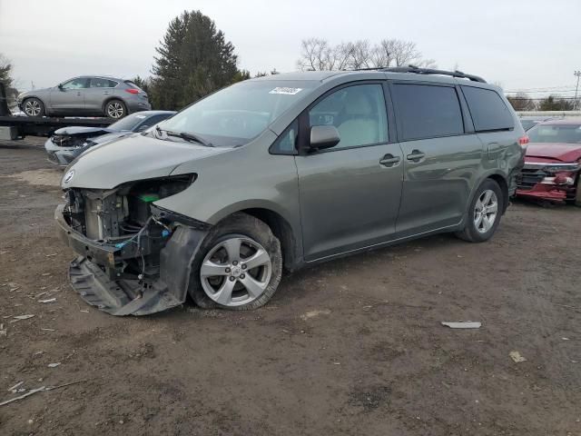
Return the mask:
M 269 226 L 234 213 L 212 229 L 194 257 L 189 292 L 205 309 L 256 309 L 276 292 L 281 272 L 281 243 Z

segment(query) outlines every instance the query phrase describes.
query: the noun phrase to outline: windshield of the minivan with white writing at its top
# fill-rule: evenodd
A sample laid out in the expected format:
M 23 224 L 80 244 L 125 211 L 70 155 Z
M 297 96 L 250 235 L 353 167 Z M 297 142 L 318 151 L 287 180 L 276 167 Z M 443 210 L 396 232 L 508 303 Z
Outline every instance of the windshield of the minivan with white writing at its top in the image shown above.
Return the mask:
M 185 108 L 160 127 L 195 134 L 218 147 L 247 144 L 313 84 L 276 80 L 233 84 Z

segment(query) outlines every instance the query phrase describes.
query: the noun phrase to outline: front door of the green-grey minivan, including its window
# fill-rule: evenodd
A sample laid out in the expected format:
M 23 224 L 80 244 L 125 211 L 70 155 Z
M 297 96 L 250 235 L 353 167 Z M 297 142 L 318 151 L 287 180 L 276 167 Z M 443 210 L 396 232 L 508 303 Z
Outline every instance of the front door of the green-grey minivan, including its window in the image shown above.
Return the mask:
M 327 124 L 340 134 L 332 148 L 295 156 L 307 262 L 384 243 L 395 233 L 403 155 L 389 128 L 386 93 L 381 82 L 348 84 L 301 115 L 308 132 Z

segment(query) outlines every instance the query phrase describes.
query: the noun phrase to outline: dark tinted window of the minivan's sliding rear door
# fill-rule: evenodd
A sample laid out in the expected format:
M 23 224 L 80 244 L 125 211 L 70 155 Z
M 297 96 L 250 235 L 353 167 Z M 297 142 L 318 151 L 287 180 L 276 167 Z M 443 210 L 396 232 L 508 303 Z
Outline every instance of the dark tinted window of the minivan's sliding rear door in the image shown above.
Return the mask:
M 456 89 L 429 84 L 394 84 L 402 140 L 464 133 Z

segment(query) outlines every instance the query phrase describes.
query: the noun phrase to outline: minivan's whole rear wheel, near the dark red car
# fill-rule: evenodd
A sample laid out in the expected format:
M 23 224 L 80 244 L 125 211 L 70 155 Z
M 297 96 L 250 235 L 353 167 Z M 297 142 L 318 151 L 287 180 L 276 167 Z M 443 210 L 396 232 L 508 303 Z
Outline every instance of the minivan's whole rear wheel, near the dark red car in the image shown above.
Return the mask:
M 466 227 L 456 235 L 470 243 L 487 241 L 497 230 L 503 208 L 500 186 L 492 179 L 485 180 L 468 206 Z

